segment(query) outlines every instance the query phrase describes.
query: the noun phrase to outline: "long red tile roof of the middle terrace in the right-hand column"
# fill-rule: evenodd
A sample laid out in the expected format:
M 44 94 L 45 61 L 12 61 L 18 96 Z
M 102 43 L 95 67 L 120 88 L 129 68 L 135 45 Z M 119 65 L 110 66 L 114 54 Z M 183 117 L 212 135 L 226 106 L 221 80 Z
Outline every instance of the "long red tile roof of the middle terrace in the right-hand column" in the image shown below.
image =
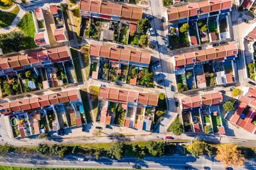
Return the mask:
M 186 55 L 195 57 L 195 62 L 202 62 L 205 60 L 213 60 L 222 57 L 229 57 L 237 54 L 236 44 L 229 44 L 223 46 L 217 46 L 214 48 L 207 48 L 204 50 L 196 52 L 182 53 L 179 55 L 174 55 L 173 59 L 175 61 L 175 66 L 184 66 L 186 64 L 191 64 L 191 60 L 186 60 Z

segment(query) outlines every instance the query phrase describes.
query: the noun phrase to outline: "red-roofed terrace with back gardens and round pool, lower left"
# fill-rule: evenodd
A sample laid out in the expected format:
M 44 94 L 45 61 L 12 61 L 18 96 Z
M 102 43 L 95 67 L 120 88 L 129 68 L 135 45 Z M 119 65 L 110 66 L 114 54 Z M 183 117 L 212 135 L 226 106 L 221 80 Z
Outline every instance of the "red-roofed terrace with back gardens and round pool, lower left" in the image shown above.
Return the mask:
M 65 106 L 70 107 L 66 110 Z M 63 110 L 58 109 L 61 107 Z M 63 117 L 67 121 L 66 127 L 70 127 L 72 117 L 76 126 L 81 127 L 81 117 L 84 118 L 83 103 L 77 89 L 1 103 L 0 113 L 10 118 L 13 133 L 16 134 L 14 136 L 21 138 L 41 132 L 58 131 L 63 128 Z

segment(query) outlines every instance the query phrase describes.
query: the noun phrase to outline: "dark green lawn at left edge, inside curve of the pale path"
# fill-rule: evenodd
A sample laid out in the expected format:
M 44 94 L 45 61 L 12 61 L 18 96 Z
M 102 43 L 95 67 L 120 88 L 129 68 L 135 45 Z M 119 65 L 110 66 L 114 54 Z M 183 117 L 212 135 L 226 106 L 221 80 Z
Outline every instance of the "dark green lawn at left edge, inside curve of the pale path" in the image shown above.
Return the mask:
M 16 6 L 12 11 L 10 12 L 3 12 L 0 11 L 0 28 L 8 27 L 12 24 L 13 20 L 17 16 L 17 13 L 19 13 L 19 6 Z

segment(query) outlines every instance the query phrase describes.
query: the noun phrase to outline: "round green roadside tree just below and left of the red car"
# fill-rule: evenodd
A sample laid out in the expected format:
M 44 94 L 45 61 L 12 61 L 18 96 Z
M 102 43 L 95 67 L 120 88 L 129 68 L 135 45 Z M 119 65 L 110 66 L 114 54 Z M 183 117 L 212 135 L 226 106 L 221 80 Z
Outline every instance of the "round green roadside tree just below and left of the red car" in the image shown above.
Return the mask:
M 160 157 L 164 154 L 164 143 L 162 141 L 148 141 L 146 146 L 148 153 L 154 157 Z

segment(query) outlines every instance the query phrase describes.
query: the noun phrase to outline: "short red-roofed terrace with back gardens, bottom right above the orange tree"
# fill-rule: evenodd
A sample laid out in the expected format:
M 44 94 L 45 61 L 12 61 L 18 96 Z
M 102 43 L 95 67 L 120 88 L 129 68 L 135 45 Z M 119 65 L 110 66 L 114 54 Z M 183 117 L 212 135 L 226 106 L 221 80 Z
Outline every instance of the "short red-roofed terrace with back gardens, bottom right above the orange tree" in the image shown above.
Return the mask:
M 219 107 L 223 102 L 220 92 L 186 97 L 180 101 L 185 132 L 204 132 L 207 126 L 209 132 L 225 134 Z

